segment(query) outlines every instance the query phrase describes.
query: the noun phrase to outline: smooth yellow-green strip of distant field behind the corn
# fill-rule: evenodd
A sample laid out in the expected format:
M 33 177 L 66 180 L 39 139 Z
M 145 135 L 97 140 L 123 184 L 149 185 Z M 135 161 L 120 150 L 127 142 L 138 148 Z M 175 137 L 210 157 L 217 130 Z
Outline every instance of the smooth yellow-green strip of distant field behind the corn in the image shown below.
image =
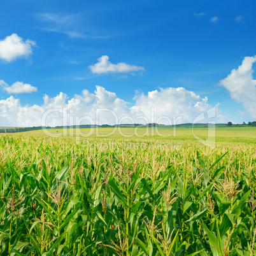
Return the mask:
M 194 132 L 194 134 L 193 134 Z M 20 132 L 19 134 L 45 134 L 43 130 Z M 256 127 L 216 127 L 216 141 L 255 142 Z M 154 139 L 206 139 L 208 128 L 196 127 L 159 127 L 158 129 L 146 128 L 92 128 L 92 129 L 48 129 L 48 136 L 81 136 L 103 138 L 154 138 Z

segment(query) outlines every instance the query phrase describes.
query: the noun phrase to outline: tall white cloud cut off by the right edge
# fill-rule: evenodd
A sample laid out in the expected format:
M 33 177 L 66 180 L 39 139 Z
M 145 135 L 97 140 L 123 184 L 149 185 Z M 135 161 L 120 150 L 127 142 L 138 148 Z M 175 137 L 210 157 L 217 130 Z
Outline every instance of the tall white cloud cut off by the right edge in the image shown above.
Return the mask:
M 256 80 L 253 80 L 252 65 L 256 62 L 254 57 L 245 57 L 238 69 L 233 69 L 231 73 L 220 81 L 231 94 L 232 99 L 242 103 L 245 110 L 256 118 Z

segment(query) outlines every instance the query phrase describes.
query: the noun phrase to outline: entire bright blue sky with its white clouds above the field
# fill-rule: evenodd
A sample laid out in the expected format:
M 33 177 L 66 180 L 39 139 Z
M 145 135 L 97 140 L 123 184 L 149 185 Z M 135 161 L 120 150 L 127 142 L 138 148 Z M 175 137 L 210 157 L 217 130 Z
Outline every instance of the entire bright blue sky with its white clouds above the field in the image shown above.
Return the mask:
M 216 106 L 216 122 L 256 120 L 255 9 L 255 1 L 3 1 L 0 125 L 41 125 L 50 108 L 92 119 L 97 108 L 119 119 L 150 118 L 153 108 L 155 118 L 192 122 Z

